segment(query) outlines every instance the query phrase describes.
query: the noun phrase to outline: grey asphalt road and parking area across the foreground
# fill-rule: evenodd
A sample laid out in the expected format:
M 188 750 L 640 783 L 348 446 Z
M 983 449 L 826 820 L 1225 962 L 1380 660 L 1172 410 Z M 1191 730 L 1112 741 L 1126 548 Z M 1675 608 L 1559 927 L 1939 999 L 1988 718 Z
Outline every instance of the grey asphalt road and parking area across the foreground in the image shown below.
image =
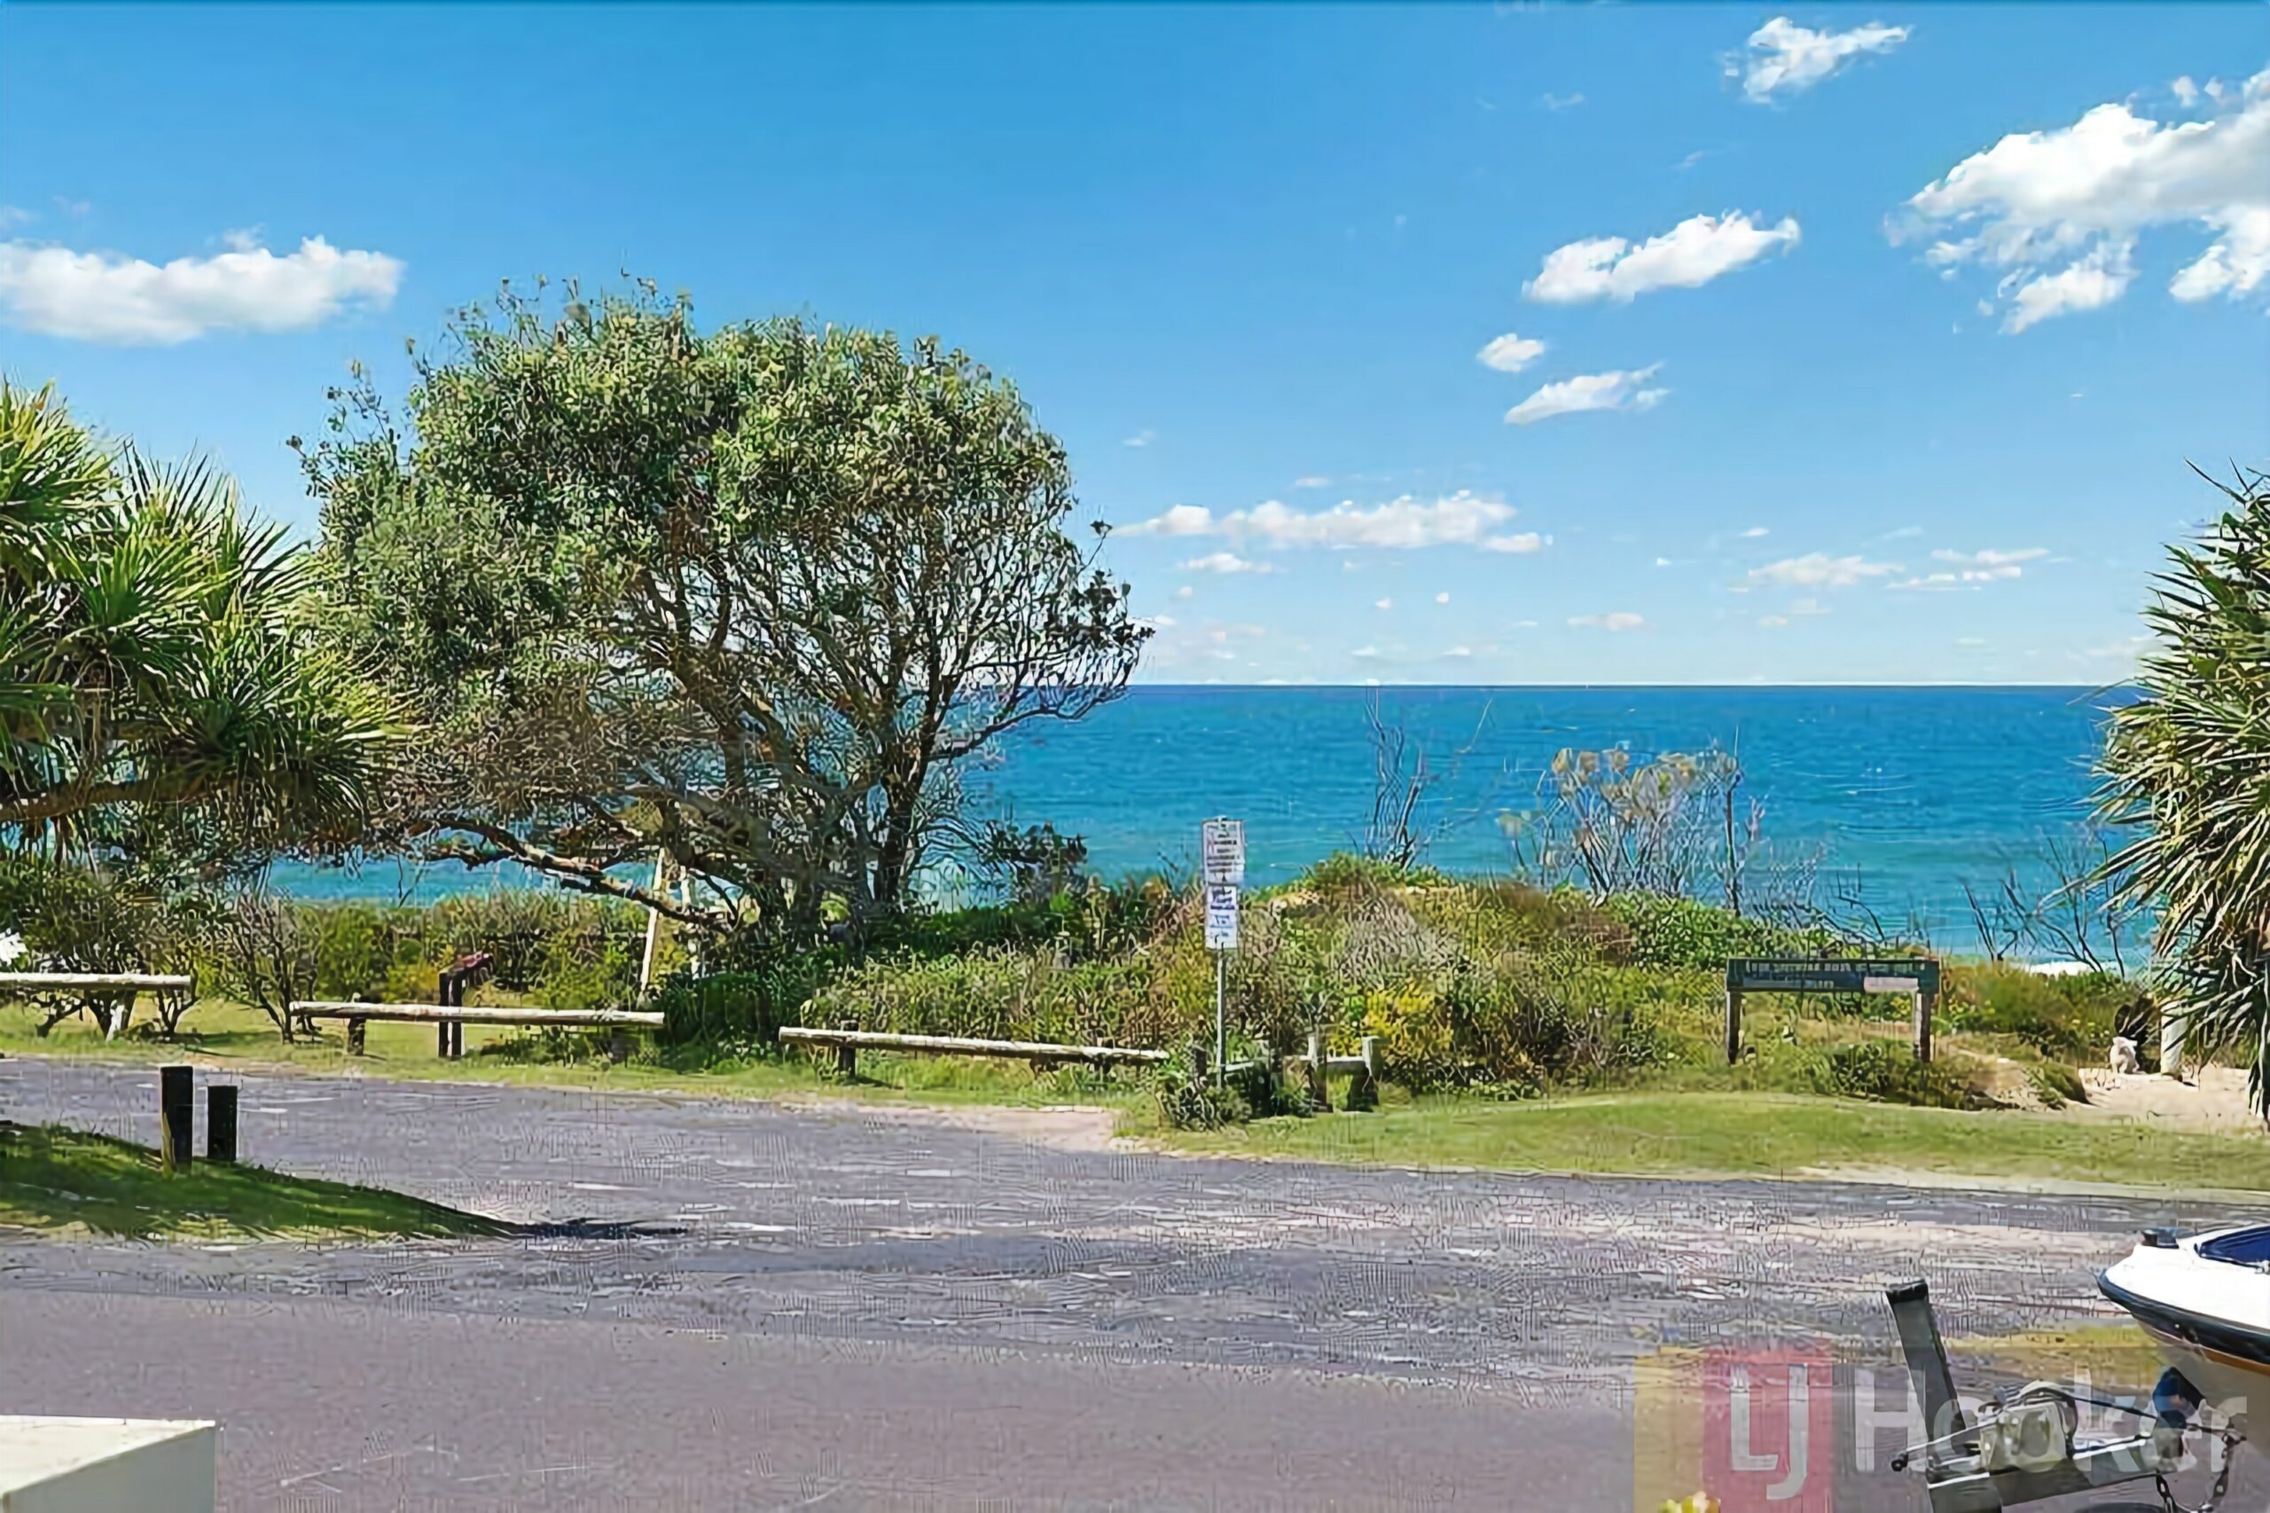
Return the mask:
M 1641 1493 L 1687 1490 L 1650 1486 L 1662 1452 L 1634 1438 L 1664 1347 L 1834 1361 L 1834 1502 L 1784 1506 L 1911 1508 L 1855 1465 L 1900 1438 L 1898 1379 L 1861 1374 L 1895 1359 L 1886 1284 L 1927 1277 L 1950 1334 L 2102 1318 L 2093 1272 L 2141 1227 L 2218 1218 L 1189 1161 L 858 1104 L 243 1084 L 252 1161 L 561 1229 L 0 1240 L 0 1411 L 218 1418 L 229 1508 L 1628 1508 L 1634 1461 Z M 154 1106 L 154 1070 L 0 1061 L 9 1118 L 150 1140 Z M 2231 1508 L 2270 1508 L 2240 1486 Z

